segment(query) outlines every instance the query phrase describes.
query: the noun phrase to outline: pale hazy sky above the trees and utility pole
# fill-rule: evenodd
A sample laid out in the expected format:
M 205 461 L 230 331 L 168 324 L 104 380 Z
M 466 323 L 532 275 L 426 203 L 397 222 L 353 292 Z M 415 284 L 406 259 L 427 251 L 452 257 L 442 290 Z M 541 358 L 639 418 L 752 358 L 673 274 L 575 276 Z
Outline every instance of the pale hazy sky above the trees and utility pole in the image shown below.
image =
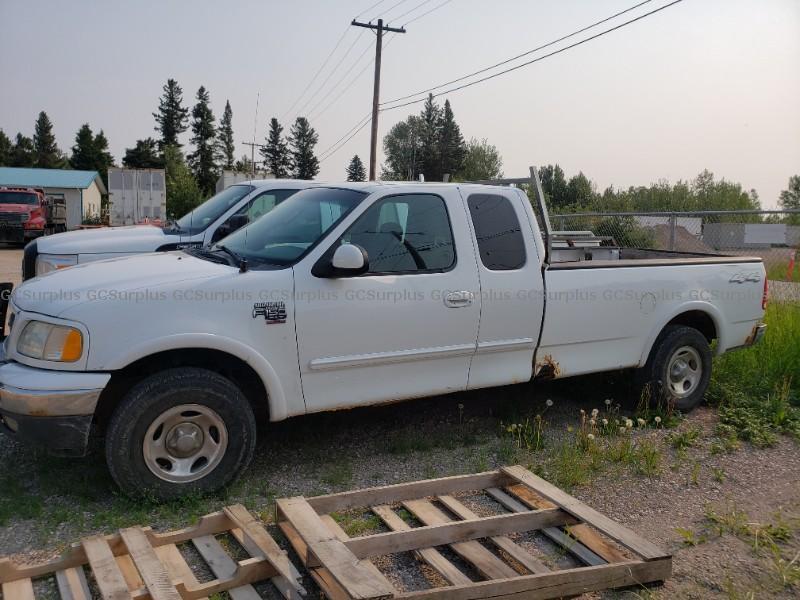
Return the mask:
M 653 0 L 570 41 L 668 2 Z M 356 16 L 408 23 L 407 33 L 384 42 L 386 101 L 535 48 L 637 0 L 384 0 L 370 8 L 375 3 L 0 0 L 0 129 L 32 135 L 44 110 L 63 150 L 89 123 L 105 131 L 120 160 L 137 139 L 156 136 L 152 112 L 172 77 L 186 104 L 204 85 L 217 118 L 230 101 L 237 155 L 249 154 L 242 142 L 264 141 L 271 117 L 288 130 L 298 111 L 318 132 L 322 152 L 371 108 L 375 42 L 370 31 L 348 26 Z M 800 174 L 800 0 L 684 0 L 438 100 L 445 97 L 466 138 L 497 146 L 507 177 L 558 163 L 567 175 L 583 171 L 602 191 L 709 169 L 755 188 L 772 208 L 789 177 Z M 382 112 L 379 139 L 420 108 Z M 369 130 L 323 160 L 319 178 L 343 179 L 354 154 L 366 164 Z

